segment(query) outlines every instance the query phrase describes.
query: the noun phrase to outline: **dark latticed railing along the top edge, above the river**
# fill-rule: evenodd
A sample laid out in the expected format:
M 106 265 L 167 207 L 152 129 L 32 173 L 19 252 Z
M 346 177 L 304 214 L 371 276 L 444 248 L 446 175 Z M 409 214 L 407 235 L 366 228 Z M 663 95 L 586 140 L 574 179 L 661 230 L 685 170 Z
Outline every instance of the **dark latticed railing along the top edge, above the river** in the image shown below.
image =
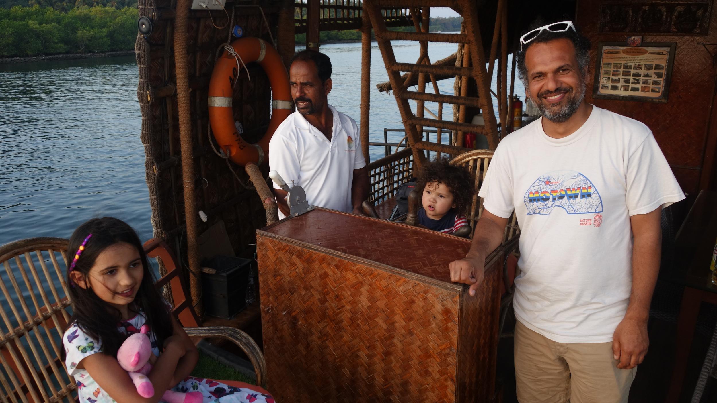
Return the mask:
M 295 0 L 295 32 L 308 30 L 308 1 Z M 320 31 L 338 31 L 361 28 L 360 0 L 318 0 Z M 408 8 L 391 8 L 383 11 L 386 26 L 409 26 L 412 24 Z

